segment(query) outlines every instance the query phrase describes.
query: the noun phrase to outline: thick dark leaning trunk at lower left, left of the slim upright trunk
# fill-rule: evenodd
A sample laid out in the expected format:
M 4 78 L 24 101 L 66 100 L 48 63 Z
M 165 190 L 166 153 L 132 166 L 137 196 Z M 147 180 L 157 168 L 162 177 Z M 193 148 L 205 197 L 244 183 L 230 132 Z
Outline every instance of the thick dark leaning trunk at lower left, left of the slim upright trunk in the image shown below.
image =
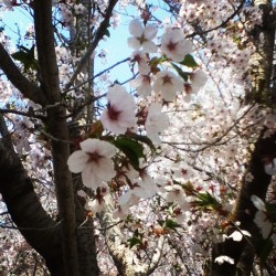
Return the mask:
M 21 234 L 46 262 L 51 275 L 64 275 L 61 225 L 42 208 L 0 115 L 0 193 Z

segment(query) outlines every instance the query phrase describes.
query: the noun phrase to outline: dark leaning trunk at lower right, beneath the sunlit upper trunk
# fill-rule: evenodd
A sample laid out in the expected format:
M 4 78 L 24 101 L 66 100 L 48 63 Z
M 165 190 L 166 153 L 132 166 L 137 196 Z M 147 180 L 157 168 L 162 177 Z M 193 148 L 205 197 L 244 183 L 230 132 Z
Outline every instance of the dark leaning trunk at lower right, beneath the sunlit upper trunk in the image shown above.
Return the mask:
M 246 182 L 243 180 L 240 193 L 237 195 L 235 209 L 233 210 L 233 219 L 241 222 L 240 227 L 242 230 L 246 230 L 252 234 L 250 241 L 253 244 L 258 237 L 259 231 L 253 221 L 256 209 L 251 201 L 251 195 L 255 194 L 258 198 L 265 200 L 272 177 L 265 172 L 263 159 L 276 152 L 276 134 L 264 139 L 263 131 L 255 144 L 255 149 L 252 153 L 252 158 L 247 168 L 247 172 L 253 174 L 254 180 L 252 182 Z M 229 231 L 231 232 L 233 230 L 230 229 Z M 254 248 L 244 238 L 243 242 L 234 242 L 232 238 L 229 238 L 224 243 L 214 244 L 210 275 L 235 275 L 236 266 L 238 266 L 240 273 L 242 273 L 241 275 L 250 275 L 254 254 Z M 215 257 L 221 255 L 232 257 L 235 261 L 235 265 L 231 265 L 226 262 L 224 262 L 222 265 L 215 263 Z M 241 259 L 242 262 L 240 262 Z

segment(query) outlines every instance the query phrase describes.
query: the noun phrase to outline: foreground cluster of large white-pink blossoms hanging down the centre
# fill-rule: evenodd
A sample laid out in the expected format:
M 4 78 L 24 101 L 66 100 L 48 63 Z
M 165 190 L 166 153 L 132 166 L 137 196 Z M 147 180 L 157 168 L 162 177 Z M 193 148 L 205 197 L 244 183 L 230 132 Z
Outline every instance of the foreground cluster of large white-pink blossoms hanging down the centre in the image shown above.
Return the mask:
M 73 152 L 67 161 L 72 172 L 82 172 L 84 185 L 97 191 L 100 187 L 107 188 L 106 183 L 110 183 L 119 176 L 112 161 L 116 159 L 116 142 L 115 146 L 112 145 L 110 141 L 105 140 L 105 136 L 135 134 L 138 129 L 144 129 L 155 145 L 161 145 L 159 134 L 169 127 L 169 117 L 162 113 L 162 106 L 176 102 L 178 94 L 195 94 L 206 82 L 206 75 L 201 70 L 187 71 L 187 73 L 183 71 L 187 78 L 181 77 L 180 71 L 184 66 L 188 70 L 189 65 L 181 64 L 181 62 L 184 62 L 185 56 L 190 55 L 193 50 L 192 42 L 185 39 L 181 29 L 167 28 L 160 39 L 160 47 L 153 42 L 158 32 L 157 25 L 142 25 L 139 20 L 132 20 L 129 24 L 129 32 L 131 36 L 128 39 L 128 45 L 135 50 L 132 63 L 138 67 L 138 76 L 130 84 L 137 88 L 139 97 L 135 98 L 121 85 L 112 86 L 106 94 L 107 105 L 99 117 L 106 130 L 102 134 L 102 140 L 82 141 L 81 150 Z M 151 56 L 157 54 L 158 49 L 161 57 Z M 157 63 L 152 66 L 155 60 Z M 185 89 L 187 86 L 190 88 Z M 148 103 L 140 104 L 139 107 L 139 103 L 144 99 Z M 173 173 L 176 177 L 178 172 Z M 119 208 L 115 211 L 115 216 L 127 214 L 129 206 L 136 204 L 139 199 L 152 198 L 158 192 L 158 183 L 155 183 L 140 166 L 139 169 L 134 169 L 129 164 L 124 172 L 124 178 L 128 183 L 128 189 L 121 191 L 123 194 L 118 198 Z M 161 190 L 164 191 L 168 202 L 177 199 L 182 209 L 188 209 L 189 203 L 184 200 L 184 192 L 180 187 L 169 185 Z M 103 203 L 103 198 L 104 195 L 97 199 L 98 203 Z

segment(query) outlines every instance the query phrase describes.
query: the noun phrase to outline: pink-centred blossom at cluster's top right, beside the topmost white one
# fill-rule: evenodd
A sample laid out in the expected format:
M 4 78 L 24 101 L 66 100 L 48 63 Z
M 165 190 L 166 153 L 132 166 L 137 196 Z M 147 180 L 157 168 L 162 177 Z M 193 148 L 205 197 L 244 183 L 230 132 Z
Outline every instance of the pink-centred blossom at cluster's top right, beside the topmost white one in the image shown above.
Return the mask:
M 168 28 L 161 38 L 160 49 L 173 62 L 182 62 L 192 52 L 192 42 L 185 40 L 181 29 Z

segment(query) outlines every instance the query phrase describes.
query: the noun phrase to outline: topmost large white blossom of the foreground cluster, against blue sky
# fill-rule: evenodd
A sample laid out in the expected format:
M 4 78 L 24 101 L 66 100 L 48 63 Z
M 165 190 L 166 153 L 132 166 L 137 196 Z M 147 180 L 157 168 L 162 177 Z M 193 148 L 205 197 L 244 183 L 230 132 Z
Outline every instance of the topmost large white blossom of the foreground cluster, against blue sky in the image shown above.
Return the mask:
M 157 35 L 157 25 L 148 24 L 145 28 L 139 20 L 135 19 L 129 23 L 129 32 L 132 38 L 128 39 L 128 45 L 135 50 L 142 49 L 147 53 L 156 53 L 157 45 L 152 40 Z

